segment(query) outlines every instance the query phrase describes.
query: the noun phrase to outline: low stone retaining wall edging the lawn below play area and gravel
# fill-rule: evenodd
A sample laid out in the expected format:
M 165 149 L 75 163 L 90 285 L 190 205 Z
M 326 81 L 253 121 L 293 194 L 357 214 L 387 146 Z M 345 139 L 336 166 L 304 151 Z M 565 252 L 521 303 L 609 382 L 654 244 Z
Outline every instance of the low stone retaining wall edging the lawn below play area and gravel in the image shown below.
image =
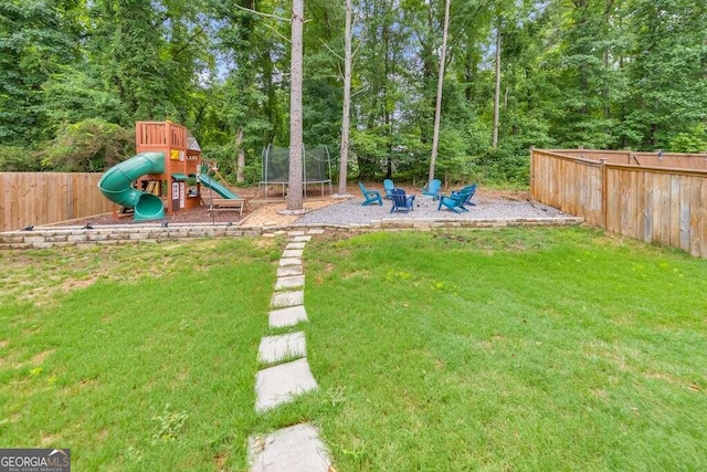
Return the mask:
M 180 241 L 192 238 L 238 238 L 258 237 L 274 231 L 302 228 L 328 229 L 334 231 L 431 231 L 458 228 L 508 228 L 537 225 L 576 225 L 581 218 L 517 218 L 495 220 L 400 220 L 383 219 L 368 224 L 289 224 L 286 227 L 238 227 L 221 224 L 175 224 L 169 227 L 105 225 L 93 229 L 78 227 L 34 228 L 31 231 L 0 233 L 1 249 L 45 249 L 64 245 L 127 244 L 136 242 Z

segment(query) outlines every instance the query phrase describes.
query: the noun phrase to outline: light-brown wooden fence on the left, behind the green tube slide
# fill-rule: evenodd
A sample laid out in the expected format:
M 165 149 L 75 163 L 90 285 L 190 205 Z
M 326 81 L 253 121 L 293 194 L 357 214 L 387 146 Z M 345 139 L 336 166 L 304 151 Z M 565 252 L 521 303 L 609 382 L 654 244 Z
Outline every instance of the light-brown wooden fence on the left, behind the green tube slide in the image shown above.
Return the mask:
M 102 174 L 0 172 L 0 231 L 113 210 L 98 190 Z

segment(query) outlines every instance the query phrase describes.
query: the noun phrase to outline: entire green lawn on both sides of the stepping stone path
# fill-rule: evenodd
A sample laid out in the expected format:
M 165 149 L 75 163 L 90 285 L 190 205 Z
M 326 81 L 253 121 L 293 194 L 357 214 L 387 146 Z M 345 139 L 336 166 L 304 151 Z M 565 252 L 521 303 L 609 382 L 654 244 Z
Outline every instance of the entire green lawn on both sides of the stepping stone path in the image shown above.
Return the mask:
M 283 241 L 0 252 L 0 447 L 242 470 L 312 421 L 337 470 L 696 470 L 707 262 L 588 229 L 325 235 L 320 389 L 253 412 Z

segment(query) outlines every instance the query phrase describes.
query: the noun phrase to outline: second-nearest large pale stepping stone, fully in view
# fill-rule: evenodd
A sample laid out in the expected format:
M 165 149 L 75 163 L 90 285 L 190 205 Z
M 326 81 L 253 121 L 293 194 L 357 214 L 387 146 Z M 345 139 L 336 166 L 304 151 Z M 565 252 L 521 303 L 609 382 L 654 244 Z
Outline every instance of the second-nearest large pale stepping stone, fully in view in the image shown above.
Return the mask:
M 306 358 L 268 367 L 255 375 L 255 411 L 267 411 L 317 387 Z

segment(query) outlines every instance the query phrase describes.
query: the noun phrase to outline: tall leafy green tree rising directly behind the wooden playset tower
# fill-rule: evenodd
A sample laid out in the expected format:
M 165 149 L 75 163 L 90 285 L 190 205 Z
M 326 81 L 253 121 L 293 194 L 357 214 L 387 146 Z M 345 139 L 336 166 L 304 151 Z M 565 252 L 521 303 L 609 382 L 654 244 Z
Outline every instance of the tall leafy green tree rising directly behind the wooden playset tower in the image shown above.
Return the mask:
M 188 124 L 190 98 L 208 69 L 201 2 L 96 0 L 88 41 L 103 90 L 117 97 L 126 119 Z

